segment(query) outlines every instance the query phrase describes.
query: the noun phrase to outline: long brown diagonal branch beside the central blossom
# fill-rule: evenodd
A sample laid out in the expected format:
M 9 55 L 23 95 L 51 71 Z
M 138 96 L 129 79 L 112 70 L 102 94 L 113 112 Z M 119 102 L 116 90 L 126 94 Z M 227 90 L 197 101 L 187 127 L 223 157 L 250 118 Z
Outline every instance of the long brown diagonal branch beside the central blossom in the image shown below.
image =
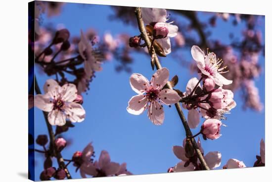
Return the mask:
M 135 13 L 136 13 L 136 17 L 137 17 L 139 31 L 141 32 L 141 35 L 142 35 L 142 37 L 144 39 L 144 42 L 146 43 L 149 54 L 154 55 L 155 66 L 156 66 L 157 69 L 161 69 L 162 68 L 161 63 L 160 63 L 160 61 L 159 61 L 159 59 L 158 59 L 158 57 L 157 57 L 157 55 L 155 53 L 154 48 L 151 47 L 151 42 L 150 42 L 149 37 L 148 37 L 148 35 L 146 33 L 145 26 L 144 26 L 142 16 L 141 16 L 140 7 L 136 7 Z M 166 84 L 166 87 L 169 88 L 169 89 L 173 89 L 172 86 L 169 84 L 169 82 Z M 203 168 L 205 170 L 210 170 L 207 163 L 205 162 L 205 159 L 203 158 L 203 155 L 201 154 L 201 151 L 198 148 L 198 145 L 197 145 L 195 139 L 192 138 L 193 134 L 192 134 L 192 132 L 190 130 L 190 127 L 189 127 L 189 125 L 188 125 L 188 123 L 187 123 L 187 121 L 186 121 L 186 119 L 184 117 L 184 114 L 183 114 L 182 110 L 181 110 L 180 103 L 176 103 L 175 107 L 176 107 L 176 109 L 178 111 L 178 114 L 179 114 L 179 116 L 181 118 L 181 122 L 182 122 L 183 127 L 184 127 L 185 132 L 186 132 L 186 137 L 191 140 L 199 161 L 201 162 L 201 164 L 202 164 L 202 166 L 203 166 Z

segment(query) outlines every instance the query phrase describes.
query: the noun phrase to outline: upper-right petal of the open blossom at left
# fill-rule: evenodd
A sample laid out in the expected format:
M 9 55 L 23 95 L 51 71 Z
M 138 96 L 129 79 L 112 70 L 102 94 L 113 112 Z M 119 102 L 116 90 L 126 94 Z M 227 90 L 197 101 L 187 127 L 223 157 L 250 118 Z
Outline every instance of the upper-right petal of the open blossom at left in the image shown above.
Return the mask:
M 77 87 L 74 84 L 68 83 L 61 87 L 61 99 L 67 102 L 73 102 L 77 98 Z

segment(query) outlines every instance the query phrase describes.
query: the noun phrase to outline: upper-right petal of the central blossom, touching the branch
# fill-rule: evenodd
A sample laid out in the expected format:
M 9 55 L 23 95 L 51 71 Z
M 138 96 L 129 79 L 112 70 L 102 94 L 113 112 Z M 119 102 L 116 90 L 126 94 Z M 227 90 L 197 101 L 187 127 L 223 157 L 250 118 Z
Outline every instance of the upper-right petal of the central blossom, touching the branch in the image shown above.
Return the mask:
M 169 70 L 165 67 L 158 69 L 151 78 L 151 84 L 153 87 L 160 89 L 168 82 Z

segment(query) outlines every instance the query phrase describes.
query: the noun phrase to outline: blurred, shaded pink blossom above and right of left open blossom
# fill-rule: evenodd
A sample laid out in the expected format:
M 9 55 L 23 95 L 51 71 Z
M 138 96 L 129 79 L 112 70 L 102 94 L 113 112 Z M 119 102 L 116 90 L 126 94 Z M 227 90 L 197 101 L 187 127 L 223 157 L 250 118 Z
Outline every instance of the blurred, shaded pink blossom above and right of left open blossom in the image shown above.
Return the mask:
M 81 39 L 78 44 L 80 56 L 85 60 L 84 69 L 87 77 L 91 77 L 93 71 L 101 71 L 101 61 L 97 59 L 90 41 L 81 30 Z

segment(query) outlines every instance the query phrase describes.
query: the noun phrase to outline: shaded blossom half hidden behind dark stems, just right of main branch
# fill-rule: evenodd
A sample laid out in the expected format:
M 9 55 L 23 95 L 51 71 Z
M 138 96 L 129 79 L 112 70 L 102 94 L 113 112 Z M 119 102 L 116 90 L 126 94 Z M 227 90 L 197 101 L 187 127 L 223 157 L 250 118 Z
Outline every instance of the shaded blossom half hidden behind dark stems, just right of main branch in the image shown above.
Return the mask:
M 186 91 L 184 92 L 184 97 L 187 97 L 190 95 L 190 93 L 193 91 L 193 88 L 198 83 L 198 79 L 196 77 L 191 78 L 186 86 Z M 192 95 L 195 95 L 193 93 Z M 188 110 L 188 125 L 190 128 L 196 128 L 200 122 L 200 114 L 197 108 L 191 108 L 190 105 L 185 105 L 182 103 L 182 106 L 184 109 Z

